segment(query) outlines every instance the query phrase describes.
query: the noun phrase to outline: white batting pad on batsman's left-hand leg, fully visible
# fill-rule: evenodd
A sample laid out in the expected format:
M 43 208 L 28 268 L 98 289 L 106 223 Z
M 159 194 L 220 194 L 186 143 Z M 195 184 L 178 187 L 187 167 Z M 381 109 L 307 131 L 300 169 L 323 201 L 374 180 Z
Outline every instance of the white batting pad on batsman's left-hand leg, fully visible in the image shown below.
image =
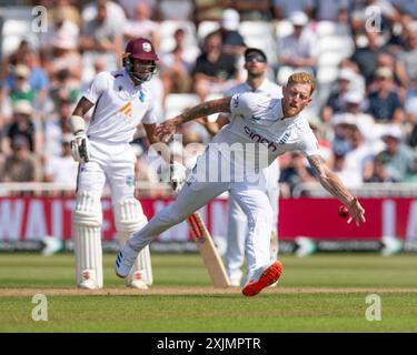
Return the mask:
M 72 237 L 77 285 L 81 288 L 101 288 L 103 286 L 101 222 L 100 195 L 79 192 L 72 216 Z

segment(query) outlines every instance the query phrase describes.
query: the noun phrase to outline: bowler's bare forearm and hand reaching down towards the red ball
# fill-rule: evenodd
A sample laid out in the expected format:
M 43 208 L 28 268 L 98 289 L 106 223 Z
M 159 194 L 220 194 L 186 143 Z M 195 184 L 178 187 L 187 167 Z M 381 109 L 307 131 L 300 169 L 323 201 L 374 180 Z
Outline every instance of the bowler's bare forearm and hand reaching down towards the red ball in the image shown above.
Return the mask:
M 349 210 L 351 220 L 356 221 L 359 226 L 360 222 L 365 222 L 365 210 L 344 185 L 340 179 L 326 165 L 325 160 L 320 155 L 310 155 L 307 158 L 311 168 L 315 170 L 320 184 L 336 199 L 338 199 Z

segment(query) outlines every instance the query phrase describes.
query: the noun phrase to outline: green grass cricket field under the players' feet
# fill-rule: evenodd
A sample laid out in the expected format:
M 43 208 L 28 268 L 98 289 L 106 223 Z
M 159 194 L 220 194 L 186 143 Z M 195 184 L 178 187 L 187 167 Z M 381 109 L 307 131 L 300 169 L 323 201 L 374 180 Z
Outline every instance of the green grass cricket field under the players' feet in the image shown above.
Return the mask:
M 282 256 L 278 287 L 214 290 L 199 255 L 152 255 L 155 284 L 128 290 L 105 255 L 105 288 L 73 286 L 73 255 L 0 254 L 0 332 L 417 332 L 417 256 Z M 31 317 L 34 294 L 48 322 Z M 369 322 L 366 296 L 381 300 Z

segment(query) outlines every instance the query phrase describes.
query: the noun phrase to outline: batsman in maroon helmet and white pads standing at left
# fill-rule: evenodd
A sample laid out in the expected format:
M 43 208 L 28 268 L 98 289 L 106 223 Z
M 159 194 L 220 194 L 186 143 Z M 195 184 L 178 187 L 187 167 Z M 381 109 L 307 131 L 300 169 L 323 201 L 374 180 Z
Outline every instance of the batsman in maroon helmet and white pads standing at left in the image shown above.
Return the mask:
M 129 142 L 139 123 L 143 124 L 149 142 L 158 142 L 152 97 L 146 85 L 156 72 L 157 60 L 150 41 L 131 40 L 123 54 L 123 70 L 99 73 L 70 118 L 75 134 L 72 155 L 80 162 L 72 219 L 79 287 L 103 286 L 100 197 L 106 181 L 111 189 L 115 224 L 121 244 L 148 222 L 135 197 L 136 156 Z M 95 111 L 86 132 L 83 116 L 92 106 Z M 127 285 L 148 288 L 152 284 L 148 246 L 133 264 Z

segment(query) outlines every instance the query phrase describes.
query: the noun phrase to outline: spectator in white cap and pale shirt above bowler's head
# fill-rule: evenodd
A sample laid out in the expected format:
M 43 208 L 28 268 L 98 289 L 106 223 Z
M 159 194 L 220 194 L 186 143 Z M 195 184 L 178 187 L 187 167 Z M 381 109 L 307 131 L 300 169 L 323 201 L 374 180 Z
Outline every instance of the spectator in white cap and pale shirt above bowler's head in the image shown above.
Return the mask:
M 292 12 L 289 17 L 294 32 L 282 38 L 278 43 L 278 62 L 292 70 L 316 72 L 318 60 L 318 37 L 308 28 L 308 17 L 301 11 Z

